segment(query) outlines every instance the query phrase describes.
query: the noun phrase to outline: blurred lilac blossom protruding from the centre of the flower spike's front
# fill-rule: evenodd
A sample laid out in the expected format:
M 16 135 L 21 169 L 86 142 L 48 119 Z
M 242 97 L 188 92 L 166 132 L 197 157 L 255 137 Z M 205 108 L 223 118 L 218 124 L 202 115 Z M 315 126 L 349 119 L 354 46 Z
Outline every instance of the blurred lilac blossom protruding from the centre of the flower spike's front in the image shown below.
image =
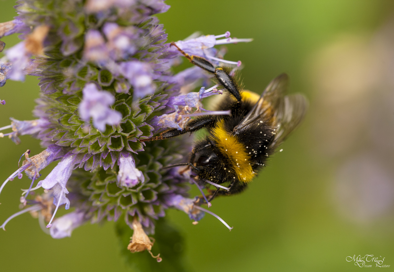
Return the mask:
M 87 83 L 82 90 L 84 99 L 79 104 L 79 114 L 82 119 L 89 121 L 93 118 L 93 125 L 100 131 L 105 131 L 106 124 L 117 125 L 122 114 L 110 108 L 115 97 L 110 92 L 99 91 L 94 83 Z

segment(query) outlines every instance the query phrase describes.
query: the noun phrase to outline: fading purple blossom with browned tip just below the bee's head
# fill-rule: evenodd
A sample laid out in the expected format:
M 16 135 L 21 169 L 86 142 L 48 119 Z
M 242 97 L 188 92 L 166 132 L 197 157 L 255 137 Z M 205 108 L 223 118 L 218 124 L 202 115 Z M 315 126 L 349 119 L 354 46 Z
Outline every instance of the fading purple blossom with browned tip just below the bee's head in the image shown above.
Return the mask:
M 184 211 L 185 213 L 187 213 L 187 215 L 189 215 L 190 219 L 199 221 L 204 217 L 205 214 L 203 211 L 196 208 L 197 206 L 194 204 L 194 202 L 197 199 L 198 197 L 196 197 L 195 199 L 191 199 L 182 197 L 181 195 L 171 194 L 166 196 L 165 203 L 168 206 Z

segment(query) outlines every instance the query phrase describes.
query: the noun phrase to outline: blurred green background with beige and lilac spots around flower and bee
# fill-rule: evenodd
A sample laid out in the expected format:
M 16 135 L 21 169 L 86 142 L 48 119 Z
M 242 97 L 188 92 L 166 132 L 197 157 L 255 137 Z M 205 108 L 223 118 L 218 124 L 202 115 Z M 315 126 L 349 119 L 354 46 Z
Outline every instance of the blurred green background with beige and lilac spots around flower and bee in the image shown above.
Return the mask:
M 261 93 L 282 72 L 290 92 L 310 109 L 299 129 L 240 195 L 217 198 L 210 215 L 193 226 L 187 215 L 167 217 L 186 239 L 194 271 L 349 271 L 363 269 L 347 256 L 373 254 L 394 267 L 394 27 L 385 0 L 167 0 L 158 17 L 169 41 L 194 31 L 254 38 L 229 45 L 225 59 L 242 60 L 246 88 Z M 0 2 L 1 21 L 15 16 L 14 1 Z M 4 37 L 9 48 L 17 35 Z M 393 49 L 392 49 L 393 48 Z M 189 64 L 182 64 L 187 67 Z M 390 70 L 391 68 L 391 70 Z M 32 119 L 37 79 L 7 81 L 0 126 L 9 117 Z M 393 134 L 391 134 L 393 132 Z M 21 137 L 0 139 L 0 180 L 17 169 L 26 149 Z M 51 169 L 45 169 L 43 175 Z M 0 221 L 18 211 L 27 178 L 9 182 L 0 196 Z M 191 194 L 197 194 L 194 188 Z M 29 214 L 0 232 L 0 271 L 130 271 L 120 254 L 114 223 L 86 224 L 71 238 L 52 239 Z M 380 259 L 380 258 L 379 258 Z M 372 264 L 374 268 L 375 264 Z

